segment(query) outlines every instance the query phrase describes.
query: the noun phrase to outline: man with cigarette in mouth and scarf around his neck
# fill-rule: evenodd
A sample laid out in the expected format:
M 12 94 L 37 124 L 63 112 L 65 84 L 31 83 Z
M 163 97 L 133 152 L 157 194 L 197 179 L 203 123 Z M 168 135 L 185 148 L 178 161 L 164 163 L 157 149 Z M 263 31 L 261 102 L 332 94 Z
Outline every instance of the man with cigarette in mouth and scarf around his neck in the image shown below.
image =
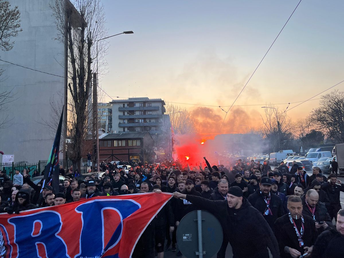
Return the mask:
M 275 222 L 275 235 L 282 258 L 310 255 L 318 233 L 315 222 L 302 215 L 302 201 L 299 196 L 288 199 L 289 213 Z M 313 257 L 313 256 L 312 256 Z

